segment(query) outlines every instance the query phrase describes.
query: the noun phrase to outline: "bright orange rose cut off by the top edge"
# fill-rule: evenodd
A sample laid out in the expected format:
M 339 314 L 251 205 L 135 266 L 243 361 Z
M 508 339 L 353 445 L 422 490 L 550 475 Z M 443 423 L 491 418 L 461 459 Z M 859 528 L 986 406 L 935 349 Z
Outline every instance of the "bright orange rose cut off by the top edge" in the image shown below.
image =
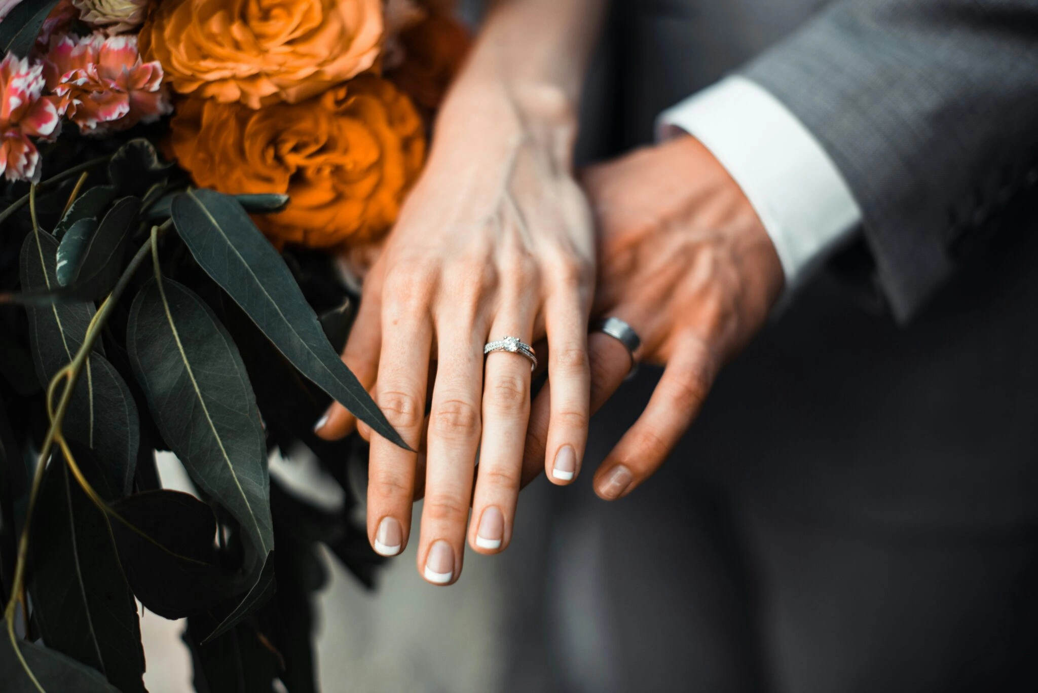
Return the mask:
M 140 48 L 177 91 L 260 108 L 370 69 L 382 28 L 382 0 L 163 0 Z

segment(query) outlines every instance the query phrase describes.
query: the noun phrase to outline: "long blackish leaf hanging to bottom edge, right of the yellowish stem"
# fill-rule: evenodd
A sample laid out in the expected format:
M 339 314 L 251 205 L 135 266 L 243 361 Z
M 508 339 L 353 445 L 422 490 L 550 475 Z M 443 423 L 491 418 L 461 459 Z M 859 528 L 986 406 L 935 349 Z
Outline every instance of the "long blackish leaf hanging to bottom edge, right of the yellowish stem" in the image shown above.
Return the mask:
M 100 471 L 77 463 L 99 492 Z M 144 650 L 133 593 L 108 518 L 60 459 L 46 472 L 29 543 L 33 614 L 44 643 L 100 671 L 122 693 L 144 691 Z

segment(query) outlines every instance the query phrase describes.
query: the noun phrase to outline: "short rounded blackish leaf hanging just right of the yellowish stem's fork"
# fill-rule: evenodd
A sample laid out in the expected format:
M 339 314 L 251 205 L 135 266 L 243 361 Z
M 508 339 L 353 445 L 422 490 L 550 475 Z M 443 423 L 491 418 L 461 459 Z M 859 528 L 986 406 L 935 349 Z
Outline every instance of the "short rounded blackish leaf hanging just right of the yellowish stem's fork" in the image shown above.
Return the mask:
M 216 518 L 208 505 L 189 494 L 153 490 L 113 509 L 136 529 L 112 523 L 127 580 L 148 611 L 183 618 L 235 593 L 236 581 L 217 565 Z

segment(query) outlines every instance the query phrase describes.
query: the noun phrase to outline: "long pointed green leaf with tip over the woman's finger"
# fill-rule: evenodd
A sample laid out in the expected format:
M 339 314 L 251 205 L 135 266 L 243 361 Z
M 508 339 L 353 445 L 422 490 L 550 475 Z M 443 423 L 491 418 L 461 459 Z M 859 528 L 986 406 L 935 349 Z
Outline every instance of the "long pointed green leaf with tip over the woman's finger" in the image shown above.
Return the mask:
M 284 261 L 240 204 L 212 190 L 190 190 L 173 199 L 172 217 L 201 268 L 303 375 L 380 435 L 407 447 L 335 353 Z

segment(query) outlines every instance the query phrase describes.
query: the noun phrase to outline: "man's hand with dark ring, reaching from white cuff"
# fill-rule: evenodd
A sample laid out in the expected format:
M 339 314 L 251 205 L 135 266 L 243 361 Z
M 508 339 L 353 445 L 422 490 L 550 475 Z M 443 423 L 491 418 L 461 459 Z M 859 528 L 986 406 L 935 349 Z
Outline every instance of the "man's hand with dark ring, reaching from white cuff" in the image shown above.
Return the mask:
M 690 136 L 590 168 L 584 185 L 599 232 L 594 315 L 617 317 L 641 338 L 640 361 L 665 365 L 656 391 L 595 475 L 605 500 L 649 478 L 699 414 L 718 370 L 764 324 L 783 268 L 753 206 Z M 630 367 L 603 334 L 589 340 L 592 409 Z M 550 382 L 526 434 L 524 482 L 544 467 Z

